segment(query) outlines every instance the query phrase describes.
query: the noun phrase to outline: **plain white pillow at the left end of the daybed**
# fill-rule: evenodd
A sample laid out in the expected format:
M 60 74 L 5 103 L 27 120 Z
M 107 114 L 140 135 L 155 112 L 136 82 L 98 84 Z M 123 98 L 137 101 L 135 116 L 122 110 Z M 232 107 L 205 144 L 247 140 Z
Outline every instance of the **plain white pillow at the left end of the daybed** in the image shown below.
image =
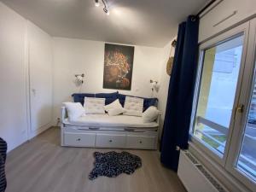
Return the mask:
M 63 102 L 65 108 L 67 109 L 67 115 L 69 120 L 76 120 L 82 115 L 85 111 L 80 102 Z

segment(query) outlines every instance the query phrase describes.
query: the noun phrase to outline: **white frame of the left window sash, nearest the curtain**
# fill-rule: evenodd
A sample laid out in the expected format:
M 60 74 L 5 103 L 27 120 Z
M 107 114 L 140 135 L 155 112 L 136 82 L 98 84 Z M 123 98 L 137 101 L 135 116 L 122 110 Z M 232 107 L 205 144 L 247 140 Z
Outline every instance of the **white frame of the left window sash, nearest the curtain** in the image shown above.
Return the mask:
M 216 161 L 220 166 L 225 166 L 227 156 L 229 154 L 229 148 L 230 148 L 230 138 L 232 136 L 232 131 L 235 124 L 235 115 L 236 115 L 236 106 L 238 106 L 239 99 L 240 99 L 240 93 L 241 93 L 241 81 L 243 78 L 243 72 L 245 67 L 245 59 L 246 59 L 246 50 L 247 50 L 247 36 L 248 36 L 248 27 L 249 23 L 241 24 L 241 26 L 236 26 L 235 28 L 224 32 L 215 38 L 212 38 L 210 40 L 207 40 L 203 44 L 200 45 L 200 56 L 199 56 L 199 62 L 197 67 L 197 75 L 196 75 L 196 83 L 195 83 L 195 92 L 194 92 L 194 100 L 193 100 L 193 109 L 191 113 L 191 121 L 190 121 L 190 128 L 189 128 L 189 135 L 190 135 L 190 141 L 195 144 L 197 148 L 200 148 L 204 153 L 207 154 L 212 160 Z M 206 143 L 203 143 L 199 138 L 195 137 L 193 134 L 194 131 L 194 125 L 195 125 L 195 115 L 196 115 L 196 109 L 198 105 L 198 99 L 200 95 L 200 86 L 201 86 L 201 78 L 202 78 L 202 70 L 203 70 L 203 61 L 205 56 L 205 51 L 207 49 L 211 49 L 214 46 L 217 46 L 218 44 L 223 44 L 224 42 L 227 42 L 233 38 L 239 37 L 240 35 L 243 35 L 243 47 L 242 47 L 242 54 L 241 54 L 241 67 L 239 72 L 239 77 L 237 79 L 237 85 L 236 85 L 236 96 L 235 101 L 233 105 L 233 111 L 231 114 L 230 119 L 230 126 L 227 133 L 227 141 L 224 149 L 224 154 L 220 154 L 218 151 L 211 147 L 207 147 Z

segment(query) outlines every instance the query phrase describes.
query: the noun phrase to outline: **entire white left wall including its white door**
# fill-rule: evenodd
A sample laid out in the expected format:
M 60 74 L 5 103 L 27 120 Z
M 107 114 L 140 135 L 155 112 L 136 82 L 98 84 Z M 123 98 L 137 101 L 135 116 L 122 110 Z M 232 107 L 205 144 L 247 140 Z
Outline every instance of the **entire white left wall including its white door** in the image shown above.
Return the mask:
M 0 3 L 0 29 L 0 137 L 6 140 L 10 151 L 51 122 L 53 51 L 47 33 L 3 3 Z M 32 105 L 29 85 L 38 90 Z

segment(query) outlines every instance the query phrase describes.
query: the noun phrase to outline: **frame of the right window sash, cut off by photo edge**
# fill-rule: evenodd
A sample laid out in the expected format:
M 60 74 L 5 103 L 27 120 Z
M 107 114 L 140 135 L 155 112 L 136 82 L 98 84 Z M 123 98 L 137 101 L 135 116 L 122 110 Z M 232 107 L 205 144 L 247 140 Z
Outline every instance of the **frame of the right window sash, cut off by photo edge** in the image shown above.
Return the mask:
M 243 78 L 243 84 L 241 85 L 241 99 L 240 103 L 244 103 L 245 112 L 237 113 L 239 116 L 236 119 L 240 119 L 233 128 L 232 137 L 236 138 L 230 141 L 230 150 L 228 159 L 226 160 L 225 168 L 237 179 L 245 183 L 250 189 L 256 189 L 256 180 L 250 179 L 246 173 L 241 172 L 236 168 L 239 154 L 241 151 L 241 145 L 244 138 L 244 132 L 247 128 L 247 114 L 249 112 L 251 104 L 251 96 L 253 93 L 253 84 L 256 79 L 256 18 L 250 21 L 250 26 L 247 30 L 247 58 L 245 64 L 245 72 Z M 239 124 L 238 124 L 239 123 Z

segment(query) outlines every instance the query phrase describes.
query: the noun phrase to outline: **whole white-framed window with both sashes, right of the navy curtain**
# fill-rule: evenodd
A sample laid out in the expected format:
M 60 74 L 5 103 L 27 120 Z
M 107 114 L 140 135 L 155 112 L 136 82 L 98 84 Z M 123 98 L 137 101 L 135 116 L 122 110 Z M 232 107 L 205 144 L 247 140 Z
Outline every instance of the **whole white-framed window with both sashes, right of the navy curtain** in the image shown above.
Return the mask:
M 190 124 L 195 150 L 256 188 L 256 19 L 200 45 Z

